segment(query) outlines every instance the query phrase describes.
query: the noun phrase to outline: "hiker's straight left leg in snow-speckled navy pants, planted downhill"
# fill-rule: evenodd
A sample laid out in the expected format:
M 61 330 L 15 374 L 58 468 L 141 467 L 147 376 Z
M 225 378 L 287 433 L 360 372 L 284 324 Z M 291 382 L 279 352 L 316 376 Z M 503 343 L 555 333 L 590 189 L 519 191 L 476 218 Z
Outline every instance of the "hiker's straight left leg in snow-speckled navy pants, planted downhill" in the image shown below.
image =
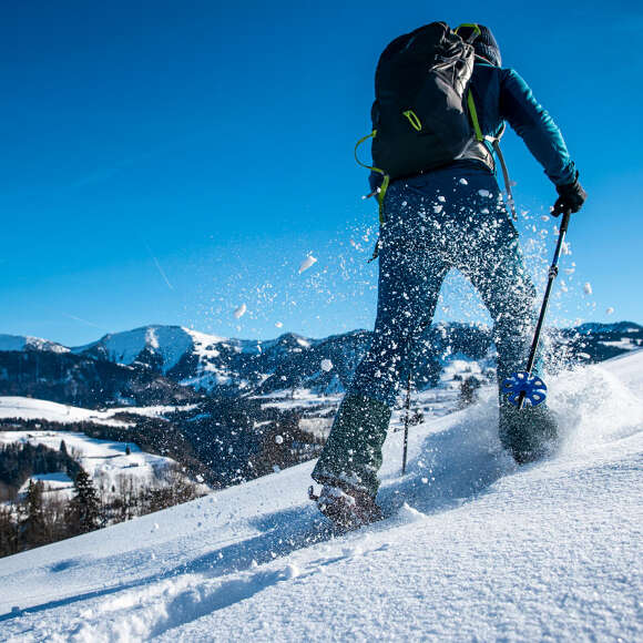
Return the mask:
M 411 198 L 400 196 L 394 204 L 411 207 Z M 390 232 L 392 228 L 387 231 L 385 225 L 381 235 L 372 341 L 313 471 L 319 483 L 357 489 L 371 497 L 379 487 L 381 447 L 401 374 L 415 341 L 433 316 L 448 271 L 443 262 L 404 238 L 404 234 Z

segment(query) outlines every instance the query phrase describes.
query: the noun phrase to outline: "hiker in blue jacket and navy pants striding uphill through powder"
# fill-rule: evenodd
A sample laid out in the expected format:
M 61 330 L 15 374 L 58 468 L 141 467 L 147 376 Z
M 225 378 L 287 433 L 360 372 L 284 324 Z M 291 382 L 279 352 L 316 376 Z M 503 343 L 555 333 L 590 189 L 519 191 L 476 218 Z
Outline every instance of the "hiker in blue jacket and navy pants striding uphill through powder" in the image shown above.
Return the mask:
M 484 136 L 508 122 L 558 191 L 553 214 L 578 212 L 585 201 L 579 173 L 559 127 L 525 81 L 501 67 L 498 43 L 484 25 L 463 25 L 472 40 L 470 90 Z M 371 173 L 371 187 L 381 177 Z M 537 318 L 534 286 L 518 233 L 496 178 L 488 140 L 437 170 L 392 181 L 382 200 L 377 317 L 372 340 L 335 417 L 313 479 L 323 486 L 318 508 L 335 523 L 356 528 L 381 517 L 377 471 L 391 408 L 416 343 L 436 309 L 447 273 L 460 271 L 493 319 L 501 384 L 523 370 Z M 557 423 L 544 404 L 518 410 L 500 397 L 499 436 L 518 463 L 547 455 Z

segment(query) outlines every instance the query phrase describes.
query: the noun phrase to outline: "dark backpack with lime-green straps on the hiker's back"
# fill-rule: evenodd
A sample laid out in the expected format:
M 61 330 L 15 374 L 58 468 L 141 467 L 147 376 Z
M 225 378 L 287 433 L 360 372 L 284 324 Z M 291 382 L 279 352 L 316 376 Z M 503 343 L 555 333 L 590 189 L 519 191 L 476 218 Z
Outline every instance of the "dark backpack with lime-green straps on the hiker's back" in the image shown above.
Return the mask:
M 372 132 L 355 146 L 357 162 L 382 174 L 381 204 L 388 183 L 455 161 L 473 137 L 481 140 L 469 81 L 471 42 L 458 29 L 431 22 L 396 38 L 381 53 L 375 74 Z M 357 157 L 357 147 L 372 137 L 372 163 Z

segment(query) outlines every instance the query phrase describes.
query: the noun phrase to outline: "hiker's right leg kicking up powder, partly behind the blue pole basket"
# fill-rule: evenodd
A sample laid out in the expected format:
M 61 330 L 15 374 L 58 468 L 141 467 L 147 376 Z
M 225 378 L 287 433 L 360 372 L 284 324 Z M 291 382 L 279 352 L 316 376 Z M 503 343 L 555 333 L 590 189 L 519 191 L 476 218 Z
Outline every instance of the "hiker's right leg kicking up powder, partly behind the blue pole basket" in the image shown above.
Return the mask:
M 501 202 L 491 210 L 487 217 L 479 220 L 477 237 L 460 257 L 458 267 L 480 293 L 493 319 L 500 440 L 517 462 L 524 463 L 551 449 L 557 439 L 557 423 L 544 404 L 519 411 L 502 395 L 504 379 L 527 366 L 535 324 L 535 288 L 524 268 L 518 233 Z M 480 204 L 477 211 L 480 212 Z M 539 367 L 537 363 L 537 370 Z

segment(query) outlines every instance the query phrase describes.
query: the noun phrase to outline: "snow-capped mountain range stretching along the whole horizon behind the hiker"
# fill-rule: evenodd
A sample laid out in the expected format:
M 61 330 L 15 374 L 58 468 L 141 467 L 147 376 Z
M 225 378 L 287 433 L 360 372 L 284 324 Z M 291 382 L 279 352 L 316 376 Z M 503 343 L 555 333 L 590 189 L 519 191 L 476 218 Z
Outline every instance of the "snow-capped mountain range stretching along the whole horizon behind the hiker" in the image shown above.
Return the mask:
M 356 330 L 323 339 L 292 333 L 272 340 L 234 339 L 181 326 L 145 326 L 105 335 L 72 348 L 18 338 L 0 343 L 0 395 L 33 396 L 82 406 L 126 402 L 176 404 L 195 391 L 214 397 L 309 390 L 346 390 L 370 333 Z M 559 367 L 593 363 L 643 346 L 643 328 L 623 322 L 552 330 Z M 4 346 L 4 348 L 2 348 Z M 29 346 L 53 346 L 33 350 Z M 438 324 L 427 329 L 414 365 L 420 389 L 435 387 L 458 359 L 491 368 L 489 328 Z M 182 392 L 183 391 L 183 392 Z M 187 400 L 190 401 L 190 400 Z

